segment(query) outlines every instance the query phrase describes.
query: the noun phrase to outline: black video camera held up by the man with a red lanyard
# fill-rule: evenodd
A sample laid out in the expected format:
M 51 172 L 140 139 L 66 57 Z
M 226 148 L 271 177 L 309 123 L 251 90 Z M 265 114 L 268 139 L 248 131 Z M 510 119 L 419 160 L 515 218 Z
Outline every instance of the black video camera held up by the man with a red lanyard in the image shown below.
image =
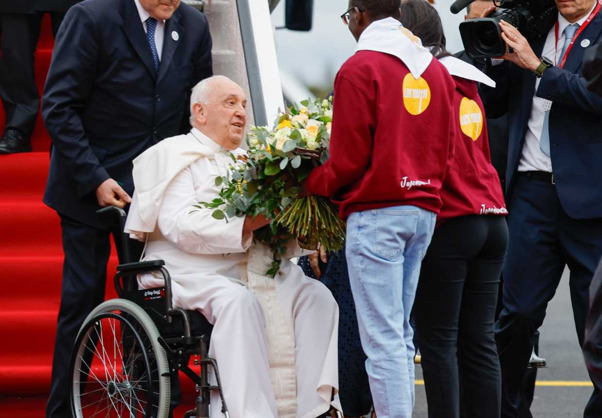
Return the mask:
M 450 10 L 459 13 L 473 1 L 457 0 Z M 506 20 L 530 41 L 547 35 L 558 16 L 554 0 L 494 0 L 494 4 L 498 10 L 491 16 L 460 23 L 462 43 L 470 58 L 506 54 L 507 46 L 501 38 L 501 20 Z

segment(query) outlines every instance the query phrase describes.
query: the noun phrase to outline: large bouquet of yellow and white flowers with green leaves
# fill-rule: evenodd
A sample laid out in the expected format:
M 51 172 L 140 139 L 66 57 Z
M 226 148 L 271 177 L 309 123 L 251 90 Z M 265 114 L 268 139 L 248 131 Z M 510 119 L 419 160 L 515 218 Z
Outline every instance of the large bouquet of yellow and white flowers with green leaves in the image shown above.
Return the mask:
M 327 251 L 338 251 L 345 236 L 334 204 L 324 197 L 299 196 L 301 182 L 329 158 L 332 98 L 300 104 L 281 112 L 273 129 L 250 128 L 247 155 L 242 159 L 232 155 L 228 174 L 216 178 L 216 186 L 222 186 L 219 197 L 195 205 L 214 209 L 218 220 L 242 215 L 270 220 L 255 232 L 255 239 L 274 251 L 266 273 L 272 277 L 290 239 L 309 250 L 319 243 Z

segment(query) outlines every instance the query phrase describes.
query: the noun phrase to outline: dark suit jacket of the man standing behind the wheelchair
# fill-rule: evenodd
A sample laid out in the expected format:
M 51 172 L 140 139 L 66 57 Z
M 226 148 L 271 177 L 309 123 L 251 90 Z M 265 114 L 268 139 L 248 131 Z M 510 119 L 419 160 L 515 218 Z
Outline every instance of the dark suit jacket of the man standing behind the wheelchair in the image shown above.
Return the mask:
M 158 75 L 134 0 L 85 0 L 70 8 L 43 96 L 53 144 L 44 202 L 101 226 L 96 188 L 113 178 L 131 195 L 132 160 L 188 131 L 190 90 L 212 73 L 206 17 L 184 3 L 166 22 Z

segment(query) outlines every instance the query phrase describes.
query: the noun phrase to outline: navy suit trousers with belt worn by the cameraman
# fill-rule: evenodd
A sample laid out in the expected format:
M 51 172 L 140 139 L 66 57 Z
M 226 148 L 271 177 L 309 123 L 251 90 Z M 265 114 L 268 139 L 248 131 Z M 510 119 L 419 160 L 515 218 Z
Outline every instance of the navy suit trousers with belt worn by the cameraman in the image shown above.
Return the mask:
M 495 324 L 502 374 L 502 417 L 519 416 L 520 388 L 565 266 L 579 345 L 583 346 L 589 284 L 602 256 L 602 218 L 569 217 L 552 183 L 518 173 L 508 200 L 509 244 L 504 263 L 503 306 Z M 585 418 L 602 416 L 602 394 L 594 389 Z

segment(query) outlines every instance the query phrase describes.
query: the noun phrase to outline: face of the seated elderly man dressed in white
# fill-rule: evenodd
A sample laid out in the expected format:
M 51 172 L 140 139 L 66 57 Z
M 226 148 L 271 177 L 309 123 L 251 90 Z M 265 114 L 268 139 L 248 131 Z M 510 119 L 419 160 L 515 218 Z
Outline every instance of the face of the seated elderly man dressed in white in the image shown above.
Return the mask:
M 243 142 L 247 124 L 247 97 L 234 81 L 214 81 L 208 103 L 193 107 L 199 130 L 227 150 L 237 149 Z M 197 112 L 199 111 L 199 112 Z

